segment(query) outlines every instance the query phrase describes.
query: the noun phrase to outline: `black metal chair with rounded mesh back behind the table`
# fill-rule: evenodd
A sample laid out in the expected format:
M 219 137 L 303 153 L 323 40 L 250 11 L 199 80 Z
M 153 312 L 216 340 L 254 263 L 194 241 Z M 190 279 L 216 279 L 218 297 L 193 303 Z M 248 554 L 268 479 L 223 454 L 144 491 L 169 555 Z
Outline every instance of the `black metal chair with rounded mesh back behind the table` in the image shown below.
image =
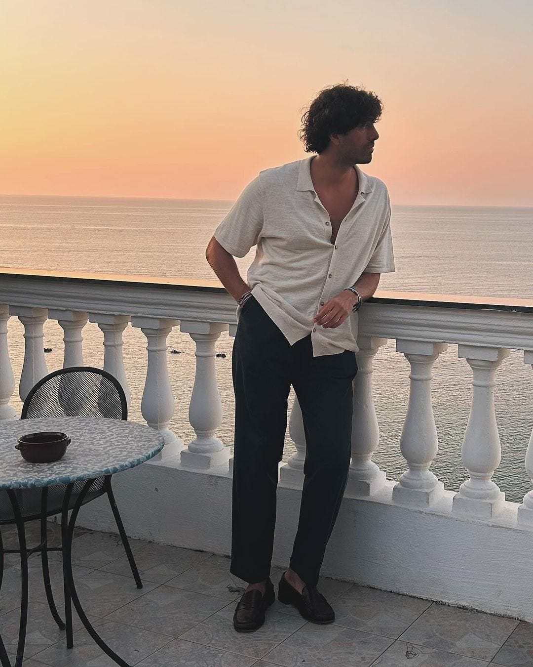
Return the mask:
M 121 384 L 111 374 L 99 368 L 89 366 L 73 366 L 62 368 L 39 380 L 31 389 L 24 402 L 21 420 L 39 419 L 46 417 L 100 417 L 107 419 L 127 420 L 128 408 L 126 396 Z M 66 543 L 68 510 L 71 510 L 79 497 L 85 481 L 76 482 L 69 497 L 68 508 L 63 505 L 66 484 L 57 484 L 43 489 L 26 489 L 15 491 L 19 504 L 22 520 L 41 520 L 41 544 L 28 551 L 28 555 L 40 551 L 43 564 L 43 578 L 47 601 L 53 618 L 58 626 L 63 629 L 65 623 L 59 617 L 50 584 L 48 552 L 61 551 L 62 547 L 49 547 L 47 543 L 47 517 L 61 514 L 61 532 L 63 544 Z M 113 489 L 111 488 L 111 476 L 105 476 L 95 480 L 83 500 L 83 504 L 95 500 L 107 494 L 109 504 L 119 529 L 126 556 L 129 561 L 133 578 L 137 588 L 143 588 L 139 571 L 133 558 L 133 553 L 124 530 L 123 522 L 115 502 Z M 0 494 L 0 526 L 15 524 L 13 516 L 13 504 L 5 492 Z M 1 542 L 0 533 L 0 582 L 3 572 L 3 556 L 5 553 L 18 552 L 18 550 L 5 550 Z M 65 621 L 67 628 L 67 646 L 71 644 L 72 620 L 71 600 L 68 593 L 69 586 L 67 574 L 63 568 L 63 580 L 65 583 Z M 68 598 L 68 600 L 67 600 Z M 72 645 L 72 644 L 71 644 Z

